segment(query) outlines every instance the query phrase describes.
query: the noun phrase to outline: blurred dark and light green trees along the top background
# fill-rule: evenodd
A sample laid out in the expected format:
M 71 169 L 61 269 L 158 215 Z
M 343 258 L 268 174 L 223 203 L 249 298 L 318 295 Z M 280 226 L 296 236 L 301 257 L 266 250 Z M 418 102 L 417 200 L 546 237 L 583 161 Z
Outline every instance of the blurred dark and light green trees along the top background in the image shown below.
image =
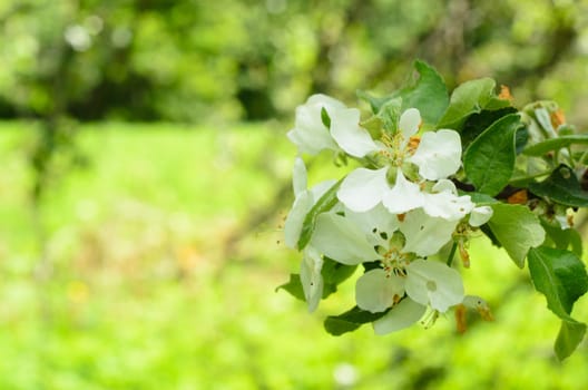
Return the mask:
M 266 119 L 316 91 L 385 92 L 415 58 L 451 86 L 480 76 L 521 101 L 582 111 L 587 1 L 7 0 L 0 115 Z M 42 22 L 40 22 L 42 21 Z M 57 95 L 56 95 L 57 94 Z

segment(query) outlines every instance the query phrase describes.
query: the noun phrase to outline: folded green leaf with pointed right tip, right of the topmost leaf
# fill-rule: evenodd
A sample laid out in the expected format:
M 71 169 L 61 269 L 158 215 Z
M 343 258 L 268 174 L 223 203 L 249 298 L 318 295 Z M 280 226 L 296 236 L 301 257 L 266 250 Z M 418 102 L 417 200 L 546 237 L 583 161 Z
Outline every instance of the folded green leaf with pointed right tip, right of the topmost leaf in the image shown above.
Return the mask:
M 458 86 L 451 94 L 449 107 L 439 120 L 438 127 L 459 130 L 472 114 L 510 106 L 510 101 L 498 99 L 494 87 L 496 81 L 491 78 L 470 80 Z

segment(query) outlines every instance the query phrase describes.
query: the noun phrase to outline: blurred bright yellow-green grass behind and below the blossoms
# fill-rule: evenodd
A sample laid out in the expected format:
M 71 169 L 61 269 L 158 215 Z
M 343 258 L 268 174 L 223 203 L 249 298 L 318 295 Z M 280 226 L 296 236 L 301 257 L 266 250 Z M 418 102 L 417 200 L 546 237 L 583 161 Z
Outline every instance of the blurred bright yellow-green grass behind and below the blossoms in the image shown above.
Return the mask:
M 557 363 L 558 321 L 530 281 L 486 241 L 469 293 L 493 323 L 451 316 L 380 338 L 341 338 L 276 285 L 298 259 L 281 243 L 285 209 L 248 234 L 248 216 L 287 183 L 294 148 L 276 125 L 86 125 L 90 165 L 41 208 L 50 277 L 27 188 L 33 129 L 0 124 L 0 389 L 580 389 L 587 348 Z M 312 175 L 316 181 L 327 172 Z M 576 316 L 588 318 L 581 299 Z

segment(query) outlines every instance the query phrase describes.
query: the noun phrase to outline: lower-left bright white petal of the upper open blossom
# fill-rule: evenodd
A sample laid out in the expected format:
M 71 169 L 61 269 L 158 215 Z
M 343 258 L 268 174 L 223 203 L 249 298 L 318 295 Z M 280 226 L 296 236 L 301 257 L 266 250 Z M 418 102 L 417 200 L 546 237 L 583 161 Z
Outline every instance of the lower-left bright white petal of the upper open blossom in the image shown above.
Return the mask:
M 365 168 L 353 170 L 341 183 L 339 199 L 356 213 L 372 209 L 382 202 L 382 195 L 390 189 L 386 173 L 388 167 L 378 170 Z

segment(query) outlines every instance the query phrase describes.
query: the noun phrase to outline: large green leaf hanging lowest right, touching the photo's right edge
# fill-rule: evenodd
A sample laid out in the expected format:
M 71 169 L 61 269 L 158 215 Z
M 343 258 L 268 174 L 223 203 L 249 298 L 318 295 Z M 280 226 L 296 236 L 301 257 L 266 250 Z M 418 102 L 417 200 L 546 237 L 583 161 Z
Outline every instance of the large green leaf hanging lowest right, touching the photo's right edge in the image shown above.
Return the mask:
M 529 271 L 547 306 L 560 319 L 569 315 L 574 303 L 588 291 L 588 274 L 582 261 L 569 251 L 539 246 L 529 250 Z

